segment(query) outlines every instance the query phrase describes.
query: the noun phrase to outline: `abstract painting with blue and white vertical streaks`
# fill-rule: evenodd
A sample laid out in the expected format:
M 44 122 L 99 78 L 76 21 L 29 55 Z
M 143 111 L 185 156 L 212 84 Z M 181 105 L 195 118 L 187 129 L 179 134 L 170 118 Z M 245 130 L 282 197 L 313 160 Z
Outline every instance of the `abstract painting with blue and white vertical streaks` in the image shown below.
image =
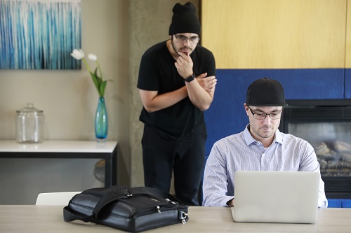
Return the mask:
M 0 0 L 0 69 L 81 69 L 81 0 Z

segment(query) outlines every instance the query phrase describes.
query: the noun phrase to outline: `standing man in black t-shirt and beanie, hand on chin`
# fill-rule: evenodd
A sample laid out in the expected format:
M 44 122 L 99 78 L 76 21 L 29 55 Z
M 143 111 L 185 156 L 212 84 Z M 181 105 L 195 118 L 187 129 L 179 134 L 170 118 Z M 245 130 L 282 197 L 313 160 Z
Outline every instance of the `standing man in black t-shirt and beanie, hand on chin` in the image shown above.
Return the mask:
M 216 86 L 215 59 L 199 45 L 200 31 L 195 6 L 176 3 L 170 39 L 144 53 L 137 85 L 145 124 L 145 186 L 169 192 L 173 173 L 176 197 L 188 205 L 199 205 L 207 138 L 204 111 Z

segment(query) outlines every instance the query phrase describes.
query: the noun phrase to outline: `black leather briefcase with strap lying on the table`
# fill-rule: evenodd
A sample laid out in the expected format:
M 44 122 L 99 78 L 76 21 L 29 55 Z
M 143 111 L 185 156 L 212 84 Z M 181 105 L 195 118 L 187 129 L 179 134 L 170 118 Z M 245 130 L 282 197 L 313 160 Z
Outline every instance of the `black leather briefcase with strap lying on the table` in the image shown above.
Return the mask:
M 186 223 L 188 206 L 155 188 L 92 188 L 72 197 L 63 209 L 66 222 L 82 220 L 127 232 Z M 88 225 L 87 225 L 88 227 Z

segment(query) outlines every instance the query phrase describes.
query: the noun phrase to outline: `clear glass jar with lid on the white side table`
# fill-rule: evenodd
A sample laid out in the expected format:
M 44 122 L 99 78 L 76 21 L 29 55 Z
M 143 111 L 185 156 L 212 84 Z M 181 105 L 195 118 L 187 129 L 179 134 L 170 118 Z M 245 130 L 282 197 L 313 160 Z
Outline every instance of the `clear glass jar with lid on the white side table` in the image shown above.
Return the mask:
M 44 111 L 32 103 L 17 111 L 16 141 L 18 143 L 41 143 L 44 141 Z

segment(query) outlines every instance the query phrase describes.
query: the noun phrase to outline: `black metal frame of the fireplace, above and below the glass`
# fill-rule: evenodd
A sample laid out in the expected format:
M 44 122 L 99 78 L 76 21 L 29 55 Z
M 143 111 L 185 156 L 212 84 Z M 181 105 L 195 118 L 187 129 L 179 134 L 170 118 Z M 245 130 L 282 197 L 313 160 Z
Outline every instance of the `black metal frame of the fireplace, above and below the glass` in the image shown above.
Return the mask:
M 289 122 L 351 122 L 351 99 L 287 99 L 286 103 L 289 106 L 284 108 L 279 125 L 284 133 L 289 133 Z M 327 198 L 351 198 L 351 177 L 322 176 L 322 179 Z

